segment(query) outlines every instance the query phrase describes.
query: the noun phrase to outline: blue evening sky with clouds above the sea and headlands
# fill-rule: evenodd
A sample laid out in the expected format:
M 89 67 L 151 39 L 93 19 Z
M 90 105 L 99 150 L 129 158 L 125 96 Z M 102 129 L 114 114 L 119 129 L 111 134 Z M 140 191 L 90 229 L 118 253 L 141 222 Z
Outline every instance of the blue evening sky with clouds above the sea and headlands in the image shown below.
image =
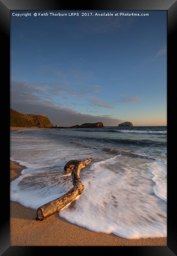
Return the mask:
M 120 12 L 11 11 L 11 108 L 57 126 L 166 126 L 167 13 Z

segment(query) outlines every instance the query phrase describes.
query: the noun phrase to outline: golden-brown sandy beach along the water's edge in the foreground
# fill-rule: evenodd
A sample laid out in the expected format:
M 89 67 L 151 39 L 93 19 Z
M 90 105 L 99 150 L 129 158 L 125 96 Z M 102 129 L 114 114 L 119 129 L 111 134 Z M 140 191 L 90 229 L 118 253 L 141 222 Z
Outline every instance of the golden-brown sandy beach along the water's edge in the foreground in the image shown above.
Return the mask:
M 10 181 L 25 168 L 10 161 Z M 35 217 L 35 210 L 10 202 L 11 246 L 167 246 L 167 237 L 125 239 L 69 223 L 58 213 L 44 221 L 36 221 Z

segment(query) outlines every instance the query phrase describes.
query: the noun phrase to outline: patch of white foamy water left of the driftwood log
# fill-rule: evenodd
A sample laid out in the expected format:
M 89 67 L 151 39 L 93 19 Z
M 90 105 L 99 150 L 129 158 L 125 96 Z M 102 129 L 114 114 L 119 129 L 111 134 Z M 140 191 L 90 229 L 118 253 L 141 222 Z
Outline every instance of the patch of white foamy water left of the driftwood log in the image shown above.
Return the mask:
M 36 210 L 39 206 L 68 191 L 71 184 L 66 183 L 63 186 L 62 182 L 58 181 L 60 179 L 61 175 L 57 175 L 56 172 L 46 173 L 44 170 L 24 169 L 21 175 L 10 184 L 10 198 L 12 201 Z

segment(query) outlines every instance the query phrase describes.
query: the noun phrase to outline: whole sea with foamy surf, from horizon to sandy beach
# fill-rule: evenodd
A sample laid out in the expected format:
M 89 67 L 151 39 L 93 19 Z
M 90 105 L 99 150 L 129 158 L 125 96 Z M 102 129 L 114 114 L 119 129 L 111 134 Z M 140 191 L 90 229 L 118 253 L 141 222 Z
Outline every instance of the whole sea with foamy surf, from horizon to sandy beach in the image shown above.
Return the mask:
M 166 237 L 166 126 L 12 131 L 11 160 L 26 169 L 11 182 L 11 200 L 36 210 L 60 197 L 73 186 L 65 164 L 90 157 L 84 190 L 59 216 L 129 239 Z

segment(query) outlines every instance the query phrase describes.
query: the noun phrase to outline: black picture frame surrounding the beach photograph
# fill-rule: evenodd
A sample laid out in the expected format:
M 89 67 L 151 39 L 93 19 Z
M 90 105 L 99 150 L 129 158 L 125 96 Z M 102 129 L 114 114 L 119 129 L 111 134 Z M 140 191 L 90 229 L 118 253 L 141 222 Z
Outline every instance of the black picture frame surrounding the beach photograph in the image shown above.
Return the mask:
M 94 0 L 81 3 L 80 1 L 68 2 L 67 0 L 0 0 L 0 29 L 2 32 L 1 50 L 4 54 L 2 58 L 2 78 L 1 87 L 2 98 L 6 99 L 5 104 L 2 101 L 1 110 L 3 112 L 3 125 L 1 125 L 1 135 L 6 137 L 6 147 L 3 146 L 2 161 L 4 169 L 3 184 L 1 191 L 1 212 L 4 215 L 0 221 L 0 254 L 1 255 L 32 255 L 39 254 L 42 249 L 45 253 L 52 254 L 55 250 L 57 253 L 65 253 L 66 247 L 10 247 L 9 236 L 9 106 L 10 105 L 10 11 L 11 10 L 166 10 L 168 13 L 168 58 L 167 58 L 167 102 L 168 102 L 168 228 L 167 228 L 167 246 L 153 247 L 136 247 L 117 246 L 116 252 L 120 255 L 141 255 L 141 256 L 173 256 L 177 255 L 177 212 L 175 209 L 175 191 L 176 180 L 175 172 L 177 165 L 175 163 L 175 123 L 177 108 L 175 106 L 176 97 L 173 92 L 175 87 L 175 48 L 177 30 L 177 2 L 175 0 Z M 2 56 L 2 55 L 1 55 Z M 5 123 L 5 125 L 4 125 Z M 8 128 L 7 128 L 8 126 Z M 5 136 L 6 135 L 6 136 Z M 173 147 L 174 146 L 174 147 Z M 4 149 L 6 148 L 6 149 Z M 6 195 L 6 197 L 5 197 Z M 82 247 L 84 249 L 85 247 Z M 90 252 L 87 247 L 87 252 Z M 74 247 L 72 247 L 74 250 Z M 109 248 L 104 248 L 110 250 Z

